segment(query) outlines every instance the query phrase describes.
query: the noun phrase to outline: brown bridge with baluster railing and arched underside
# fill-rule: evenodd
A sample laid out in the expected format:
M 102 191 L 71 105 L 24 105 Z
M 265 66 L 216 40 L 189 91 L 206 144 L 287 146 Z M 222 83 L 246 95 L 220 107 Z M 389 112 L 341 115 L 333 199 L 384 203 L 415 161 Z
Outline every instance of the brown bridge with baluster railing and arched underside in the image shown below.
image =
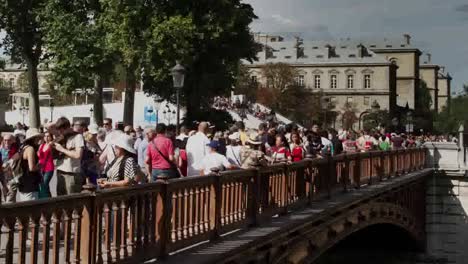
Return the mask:
M 425 160 L 358 153 L 2 205 L 0 262 L 310 263 L 380 224 L 424 250 Z

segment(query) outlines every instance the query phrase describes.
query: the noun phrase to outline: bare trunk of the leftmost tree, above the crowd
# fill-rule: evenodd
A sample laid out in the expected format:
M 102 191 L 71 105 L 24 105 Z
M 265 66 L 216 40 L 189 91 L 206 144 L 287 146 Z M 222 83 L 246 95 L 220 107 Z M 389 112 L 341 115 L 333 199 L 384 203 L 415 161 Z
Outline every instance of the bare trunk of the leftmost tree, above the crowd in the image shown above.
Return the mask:
M 29 79 L 29 127 L 41 126 L 41 113 L 39 108 L 39 81 L 37 80 L 37 63 L 26 58 Z

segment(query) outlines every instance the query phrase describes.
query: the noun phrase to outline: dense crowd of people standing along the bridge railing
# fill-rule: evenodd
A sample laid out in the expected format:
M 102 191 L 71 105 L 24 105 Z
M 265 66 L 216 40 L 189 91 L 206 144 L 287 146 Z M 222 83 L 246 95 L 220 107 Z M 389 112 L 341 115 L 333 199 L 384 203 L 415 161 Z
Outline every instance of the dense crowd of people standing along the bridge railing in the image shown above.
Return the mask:
M 60 196 L 79 193 L 85 185 L 124 187 L 305 158 L 419 147 L 437 140 L 453 139 L 385 129 L 324 130 L 318 124 L 306 130 L 275 122 L 254 130 L 237 122 L 228 131 L 200 122 L 193 128 L 181 127 L 176 134 L 174 126 L 165 124 L 122 129 L 114 128 L 111 119 L 98 127 L 61 117 L 43 131 L 18 124 L 12 134 L 3 136 L 0 184 L 6 202 L 30 201 L 51 197 L 53 177 Z

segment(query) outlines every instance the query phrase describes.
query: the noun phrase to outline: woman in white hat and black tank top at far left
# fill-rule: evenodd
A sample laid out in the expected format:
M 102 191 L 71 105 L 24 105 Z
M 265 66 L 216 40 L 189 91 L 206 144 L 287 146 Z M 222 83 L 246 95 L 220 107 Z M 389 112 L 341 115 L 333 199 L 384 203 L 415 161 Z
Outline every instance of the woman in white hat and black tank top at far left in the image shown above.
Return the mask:
M 39 199 L 39 184 L 41 174 L 36 152 L 39 149 L 42 134 L 37 128 L 30 128 L 26 132 L 26 138 L 21 149 L 20 166 L 23 175 L 18 179 L 19 201 L 33 201 Z

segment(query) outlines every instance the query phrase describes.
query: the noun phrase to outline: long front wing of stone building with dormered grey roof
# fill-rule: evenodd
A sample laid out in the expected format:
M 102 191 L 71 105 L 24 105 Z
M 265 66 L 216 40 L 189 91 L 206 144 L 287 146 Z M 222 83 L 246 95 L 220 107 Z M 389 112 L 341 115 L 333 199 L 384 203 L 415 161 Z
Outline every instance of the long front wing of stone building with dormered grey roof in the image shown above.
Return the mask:
M 269 43 L 258 58 L 254 63 L 244 62 L 254 81 L 266 84 L 262 67 L 268 63 L 291 65 L 298 72 L 299 85 L 320 92 L 332 103 L 338 115 L 335 127 L 341 127 L 341 115 L 349 109 L 346 105 L 356 116 L 375 103 L 389 111 L 396 105 L 398 66 L 364 45 L 280 41 Z

